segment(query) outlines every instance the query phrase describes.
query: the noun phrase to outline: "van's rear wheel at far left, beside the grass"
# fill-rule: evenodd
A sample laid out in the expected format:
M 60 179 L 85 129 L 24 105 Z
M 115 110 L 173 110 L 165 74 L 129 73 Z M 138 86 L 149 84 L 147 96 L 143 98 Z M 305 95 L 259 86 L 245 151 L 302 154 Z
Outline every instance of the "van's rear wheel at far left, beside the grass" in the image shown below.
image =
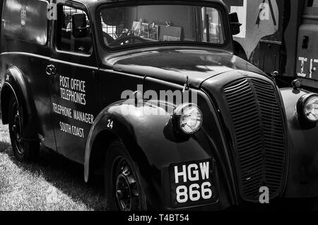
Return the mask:
M 33 162 L 37 159 L 40 151 L 40 143 L 35 141 L 36 135 L 34 134 L 34 140 L 23 140 L 22 130 L 23 126 L 23 108 L 18 104 L 18 100 L 14 95 L 10 96 L 8 104 L 8 116 L 9 116 L 9 133 L 11 139 L 11 145 L 19 162 Z

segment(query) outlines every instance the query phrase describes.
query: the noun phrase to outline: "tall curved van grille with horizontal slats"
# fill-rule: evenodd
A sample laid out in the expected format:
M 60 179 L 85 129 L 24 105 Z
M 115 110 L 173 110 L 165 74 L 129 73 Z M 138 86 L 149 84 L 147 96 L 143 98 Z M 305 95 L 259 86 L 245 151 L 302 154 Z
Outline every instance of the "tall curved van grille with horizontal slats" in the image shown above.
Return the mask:
M 275 87 L 247 78 L 224 88 L 232 116 L 235 166 L 244 200 L 259 200 L 259 188 L 270 197 L 283 189 L 286 160 L 283 111 Z

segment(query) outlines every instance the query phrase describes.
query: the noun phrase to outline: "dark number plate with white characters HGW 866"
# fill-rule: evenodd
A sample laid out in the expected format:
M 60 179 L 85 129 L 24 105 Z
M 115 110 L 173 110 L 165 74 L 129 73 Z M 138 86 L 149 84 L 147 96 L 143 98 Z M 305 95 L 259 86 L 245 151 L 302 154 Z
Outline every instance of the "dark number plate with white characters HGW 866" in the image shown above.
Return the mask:
M 169 166 L 172 207 L 187 207 L 215 202 L 216 184 L 212 160 Z

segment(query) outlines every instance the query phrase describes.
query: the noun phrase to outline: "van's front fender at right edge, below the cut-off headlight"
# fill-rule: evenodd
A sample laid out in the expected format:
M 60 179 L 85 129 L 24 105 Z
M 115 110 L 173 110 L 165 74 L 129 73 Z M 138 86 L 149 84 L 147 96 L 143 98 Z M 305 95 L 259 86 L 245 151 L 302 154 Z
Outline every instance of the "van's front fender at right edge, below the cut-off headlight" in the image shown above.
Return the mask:
M 281 90 L 288 123 L 289 165 L 285 197 L 318 196 L 318 125 L 298 119 L 296 104 L 305 90 Z

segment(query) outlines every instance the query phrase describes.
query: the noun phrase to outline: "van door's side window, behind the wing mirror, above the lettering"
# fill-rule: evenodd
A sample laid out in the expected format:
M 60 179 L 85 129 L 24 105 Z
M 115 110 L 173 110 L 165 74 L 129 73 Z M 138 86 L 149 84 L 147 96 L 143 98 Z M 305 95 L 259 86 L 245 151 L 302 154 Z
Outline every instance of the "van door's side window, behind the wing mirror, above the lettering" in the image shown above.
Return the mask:
M 86 36 L 74 37 L 72 18 L 76 13 L 86 15 Z M 69 6 L 60 6 L 58 14 L 57 49 L 81 54 L 91 54 L 93 40 L 90 31 L 90 21 L 84 11 Z

